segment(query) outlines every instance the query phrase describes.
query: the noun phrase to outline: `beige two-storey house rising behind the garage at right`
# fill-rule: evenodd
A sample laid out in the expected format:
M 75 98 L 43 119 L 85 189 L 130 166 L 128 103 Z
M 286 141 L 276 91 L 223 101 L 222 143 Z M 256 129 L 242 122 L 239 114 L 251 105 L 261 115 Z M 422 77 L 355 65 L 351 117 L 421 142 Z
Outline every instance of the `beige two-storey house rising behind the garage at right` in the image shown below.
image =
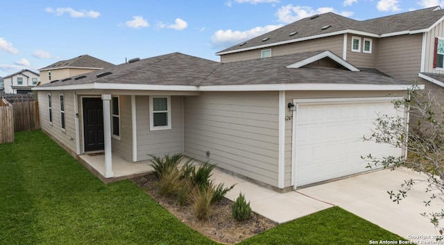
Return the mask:
M 441 97 L 444 87 L 444 10 L 440 6 L 357 21 L 328 12 L 300 19 L 216 53 L 221 62 L 332 51 L 359 68 L 425 84 Z

